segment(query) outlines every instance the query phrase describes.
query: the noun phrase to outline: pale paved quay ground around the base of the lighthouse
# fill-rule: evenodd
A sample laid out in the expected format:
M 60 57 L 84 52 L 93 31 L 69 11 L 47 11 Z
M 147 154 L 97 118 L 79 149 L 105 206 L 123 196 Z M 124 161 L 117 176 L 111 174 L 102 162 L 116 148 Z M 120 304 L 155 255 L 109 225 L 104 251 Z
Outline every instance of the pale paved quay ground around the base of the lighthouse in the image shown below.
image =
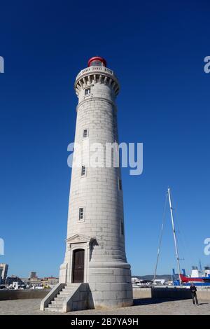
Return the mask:
M 57 314 L 52 312 L 39 311 L 41 300 L 1 300 L 0 301 L 0 315 L 6 314 Z M 107 309 L 106 311 L 99 311 L 96 309 L 89 309 L 87 311 L 69 312 L 66 315 L 152 315 L 152 314 L 209 314 L 210 315 L 210 301 L 202 300 L 199 306 L 194 306 L 191 300 L 158 300 L 158 299 L 141 299 L 135 300 L 134 306 L 124 307 L 121 309 Z M 57 314 L 59 315 L 59 314 Z

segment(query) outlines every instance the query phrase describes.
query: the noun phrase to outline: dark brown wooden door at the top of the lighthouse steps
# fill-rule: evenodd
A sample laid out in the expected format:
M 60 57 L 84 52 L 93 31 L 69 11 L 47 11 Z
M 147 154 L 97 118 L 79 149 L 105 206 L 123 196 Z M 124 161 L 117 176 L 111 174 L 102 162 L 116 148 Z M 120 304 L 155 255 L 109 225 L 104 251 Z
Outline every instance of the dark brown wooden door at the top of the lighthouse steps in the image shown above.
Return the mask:
M 84 282 L 84 260 L 84 249 L 76 249 L 73 251 L 72 282 L 74 283 Z

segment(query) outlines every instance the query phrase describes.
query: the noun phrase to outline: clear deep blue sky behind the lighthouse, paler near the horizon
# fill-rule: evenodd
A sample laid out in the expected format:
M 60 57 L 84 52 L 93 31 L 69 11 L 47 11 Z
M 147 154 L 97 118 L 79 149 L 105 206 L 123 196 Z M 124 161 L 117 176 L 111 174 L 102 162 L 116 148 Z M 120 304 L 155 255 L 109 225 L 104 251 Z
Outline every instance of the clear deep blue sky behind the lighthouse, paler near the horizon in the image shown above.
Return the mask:
M 144 173 L 123 169 L 127 259 L 151 274 L 167 186 L 187 271 L 210 237 L 209 1 L 1 1 L 0 237 L 9 274 L 58 275 L 64 258 L 77 98 L 87 59 L 116 71 L 120 141 L 144 143 Z M 172 228 L 159 274 L 176 266 Z

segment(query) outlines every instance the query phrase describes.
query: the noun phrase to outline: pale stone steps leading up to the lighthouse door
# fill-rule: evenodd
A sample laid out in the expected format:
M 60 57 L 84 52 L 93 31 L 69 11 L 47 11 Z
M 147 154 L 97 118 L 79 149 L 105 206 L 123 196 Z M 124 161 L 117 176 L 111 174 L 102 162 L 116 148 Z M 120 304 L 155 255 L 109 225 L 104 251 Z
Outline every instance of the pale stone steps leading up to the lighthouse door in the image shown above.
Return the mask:
M 81 283 L 66 283 L 56 297 L 45 307 L 45 311 L 63 312 L 63 304 L 78 290 Z

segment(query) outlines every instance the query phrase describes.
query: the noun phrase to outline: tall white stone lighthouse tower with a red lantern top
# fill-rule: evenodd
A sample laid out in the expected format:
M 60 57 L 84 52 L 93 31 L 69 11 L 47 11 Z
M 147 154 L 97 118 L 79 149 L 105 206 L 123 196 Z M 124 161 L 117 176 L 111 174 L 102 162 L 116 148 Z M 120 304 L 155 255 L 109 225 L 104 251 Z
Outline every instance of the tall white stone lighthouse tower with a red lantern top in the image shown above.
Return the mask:
M 102 144 L 105 150 L 106 143 L 118 143 L 119 83 L 105 59 L 92 57 L 74 87 L 78 96 L 75 142 L 83 147 L 86 143 L 84 154 L 89 152 L 88 144 Z M 66 254 L 59 282 L 88 283 L 87 307 L 130 306 L 120 167 L 106 167 L 103 158 L 99 162 L 99 167 L 85 161 L 72 167 Z

